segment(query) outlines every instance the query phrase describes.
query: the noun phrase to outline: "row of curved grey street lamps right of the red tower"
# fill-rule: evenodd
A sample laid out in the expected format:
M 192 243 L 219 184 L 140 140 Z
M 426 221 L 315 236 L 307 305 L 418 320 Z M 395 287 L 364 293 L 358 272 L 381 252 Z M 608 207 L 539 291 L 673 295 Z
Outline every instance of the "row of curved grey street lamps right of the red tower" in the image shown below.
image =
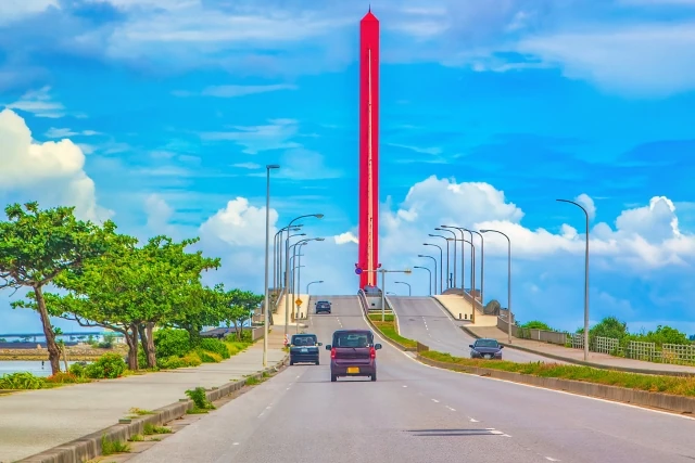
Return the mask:
M 579 203 L 574 202 L 574 201 L 569 201 L 569 200 L 556 200 L 560 203 L 569 203 L 572 204 L 577 207 L 579 207 L 580 209 L 582 209 L 584 211 L 584 216 L 586 219 L 586 230 L 585 230 L 585 252 L 584 252 L 584 361 L 589 360 L 589 213 L 586 211 L 586 209 Z M 452 230 L 458 230 L 460 232 L 460 239 L 456 237 L 456 233 Z M 508 342 L 509 344 L 511 344 L 511 240 L 509 240 L 509 236 L 507 236 L 507 234 L 501 232 L 500 230 L 469 230 L 463 227 L 454 227 L 454 226 L 441 226 L 435 228 L 434 230 L 437 231 L 447 231 L 450 233 L 453 234 L 453 237 L 448 237 L 448 236 L 444 236 L 441 234 L 432 234 L 430 233 L 429 236 L 431 237 L 441 237 L 443 240 L 446 241 L 446 288 L 452 288 L 452 287 L 456 287 L 456 243 L 457 242 L 462 242 L 462 247 L 460 247 L 460 288 L 462 292 L 466 292 L 465 290 L 465 279 L 464 279 L 464 243 L 467 243 L 468 245 L 470 245 L 470 295 L 473 298 L 473 313 L 475 313 L 475 304 L 476 304 L 476 245 L 473 244 L 473 233 L 477 234 L 478 236 L 480 236 L 480 301 L 481 305 L 484 304 L 485 299 L 484 299 L 484 239 L 483 239 L 483 234 L 484 233 L 497 233 L 501 234 L 502 236 L 504 236 L 507 240 L 507 313 L 508 313 L 508 318 L 507 318 L 507 336 L 508 336 Z M 470 234 L 470 240 L 466 240 L 464 232 L 468 232 Z M 450 260 L 448 260 L 448 255 L 450 255 L 450 248 L 448 248 L 448 242 L 453 241 L 454 242 L 454 268 L 453 268 L 453 282 L 450 281 Z M 440 273 L 440 279 L 439 279 L 439 284 L 440 284 L 440 293 L 444 292 L 444 278 L 443 278 L 443 273 L 444 273 L 444 249 L 442 248 L 442 246 L 438 245 L 438 244 L 433 244 L 433 243 L 422 243 L 422 245 L 425 246 L 433 246 L 433 247 L 438 247 L 440 250 L 440 260 L 439 260 L 439 273 Z M 429 282 L 430 282 L 430 295 L 432 294 L 432 286 L 434 287 L 434 293 L 437 293 L 437 257 L 433 256 L 428 256 L 428 255 L 424 255 L 424 254 L 418 254 L 418 257 L 422 257 L 422 258 L 428 258 L 428 259 L 432 259 L 434 261 L 434 266 L 433 266 L 433 270 L 434 270 L 434 278 L 432 279 L 432 271 L 428 268 L 428 267 L 424 267 L 424 266 L 415 266 L 415 269 L 421 269 L 421 270 L 427 270 L 428 273 L 430 274 L 429 278 Z M 434 282 L 434 284 L 432 285 L 432 282 Z M 399 282 L 401 283 L 401 282 Z M 407 284 L 407 283 L 406 283 Z M 410 294 L 409 292 L 409 285 L 408 285 L 408 294 Z

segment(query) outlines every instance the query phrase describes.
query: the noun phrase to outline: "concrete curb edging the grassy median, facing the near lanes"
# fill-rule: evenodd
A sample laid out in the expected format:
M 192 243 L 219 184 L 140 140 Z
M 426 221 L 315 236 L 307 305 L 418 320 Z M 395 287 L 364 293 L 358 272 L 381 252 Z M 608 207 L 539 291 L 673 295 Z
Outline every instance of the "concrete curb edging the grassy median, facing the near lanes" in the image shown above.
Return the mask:
M 555 377 L 532 376 L 522 373 L 506 372 L 500 370 L 481 369 L 477 366 L 457 365 L 456 363 L 440 362 L 420 355 L 417 360 L 430 366 L 445 370 L 454 370 L 479 376 L 490 376 L 514 383 L 528 384 L 545 389 L 563 390 L 579 396 L 597 397 L 616 402 L 631 403 L 640 407 L 661 409 L 675 413 L 695 413 L 695 397 L 673 396 L 662 393 L 648 393 L 646 390 L 629 389 L 624 387 L 608 386 L 604 384 L 584 383 L 573 380 L 560 380 Z

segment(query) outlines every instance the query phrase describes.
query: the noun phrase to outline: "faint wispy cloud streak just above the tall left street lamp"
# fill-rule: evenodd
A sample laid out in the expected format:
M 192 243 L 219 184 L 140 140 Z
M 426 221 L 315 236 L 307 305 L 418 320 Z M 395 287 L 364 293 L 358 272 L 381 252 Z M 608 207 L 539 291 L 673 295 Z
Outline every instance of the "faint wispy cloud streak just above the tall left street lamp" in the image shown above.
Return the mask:
M 247 154 L 258 154 L 267 150 L 289 150 L 301 147 L 290 139 L 299 131 L 299 125 L 293 119 L 271 119 L 265 126 L 235 126 L 230 131 L 204 132 L 203 140 L 233 141 L 244 146 Z

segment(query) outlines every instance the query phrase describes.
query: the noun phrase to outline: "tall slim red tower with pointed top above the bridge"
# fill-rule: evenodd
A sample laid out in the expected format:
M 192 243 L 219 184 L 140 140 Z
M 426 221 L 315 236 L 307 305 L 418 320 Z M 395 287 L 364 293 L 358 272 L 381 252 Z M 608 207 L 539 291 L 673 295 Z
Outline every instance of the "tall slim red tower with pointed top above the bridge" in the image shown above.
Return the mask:
M 379 20 L 359 22 L 359 287 L 377 285 L 379 267 Z

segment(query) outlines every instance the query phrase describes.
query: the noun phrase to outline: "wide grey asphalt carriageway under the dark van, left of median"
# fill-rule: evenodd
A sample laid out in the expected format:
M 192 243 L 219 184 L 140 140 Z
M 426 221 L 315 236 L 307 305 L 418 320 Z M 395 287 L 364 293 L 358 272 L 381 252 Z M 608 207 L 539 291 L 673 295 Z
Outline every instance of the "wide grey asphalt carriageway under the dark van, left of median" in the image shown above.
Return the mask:
M 356 297 L 311 316 L 324 344 L 366 327 Z M 422 365 L 381 342 L 379 381 L 288 368 L 132 462 L 692 462 L 695 421 Z

